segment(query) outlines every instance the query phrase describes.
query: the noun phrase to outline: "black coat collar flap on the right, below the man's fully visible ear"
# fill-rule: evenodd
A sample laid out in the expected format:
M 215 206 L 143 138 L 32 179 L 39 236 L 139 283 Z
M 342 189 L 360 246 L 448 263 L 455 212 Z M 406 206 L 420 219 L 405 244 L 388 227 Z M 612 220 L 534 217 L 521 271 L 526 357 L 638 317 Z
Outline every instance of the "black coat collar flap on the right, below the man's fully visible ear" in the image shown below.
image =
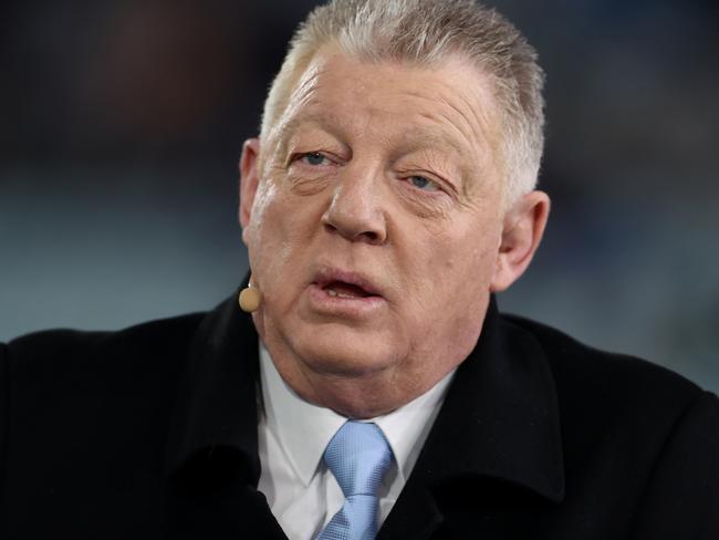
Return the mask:
M 483 476 L 554 501 L 564 496 L 559 406 L 548 360 L 530 333 L 499 315 L 493 299 L 420 459 L 433 464 L 423 471 L 430 484 Z

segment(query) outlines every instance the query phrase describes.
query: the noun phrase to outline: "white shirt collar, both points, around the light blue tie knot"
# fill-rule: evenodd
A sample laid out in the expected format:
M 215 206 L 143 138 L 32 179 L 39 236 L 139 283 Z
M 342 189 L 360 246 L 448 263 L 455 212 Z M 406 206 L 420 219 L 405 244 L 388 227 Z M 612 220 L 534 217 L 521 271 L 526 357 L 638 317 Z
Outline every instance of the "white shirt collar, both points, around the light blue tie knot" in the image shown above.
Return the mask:
M 377 424 L 387 438 L 403 482 L 417 461 L 454 373 L 398 409 L 367 420 Z M 295 474 L 309 486 L 330 439 L 347 418 L 302 399 L 282 380 L 263 344 L 260 344 L 260 377 L 268 428 L 280 442 Z

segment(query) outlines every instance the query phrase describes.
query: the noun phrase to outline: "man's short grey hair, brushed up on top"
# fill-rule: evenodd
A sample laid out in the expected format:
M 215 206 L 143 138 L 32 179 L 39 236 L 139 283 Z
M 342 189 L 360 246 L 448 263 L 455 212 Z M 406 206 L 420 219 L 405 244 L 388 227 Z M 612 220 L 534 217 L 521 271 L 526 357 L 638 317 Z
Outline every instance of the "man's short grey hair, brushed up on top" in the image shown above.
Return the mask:
M 333 0 L 315 8 L 294 33 L 272 82 L 262 138 L 314 54 L 331 42 L 375 62 L 430 66 L 448 55 L 468 59 L 489 76 L 499 105 L 506 201 L 534 188 L 544 147 L 544 73 L 535 50 L 497 11 L 473 0 Z

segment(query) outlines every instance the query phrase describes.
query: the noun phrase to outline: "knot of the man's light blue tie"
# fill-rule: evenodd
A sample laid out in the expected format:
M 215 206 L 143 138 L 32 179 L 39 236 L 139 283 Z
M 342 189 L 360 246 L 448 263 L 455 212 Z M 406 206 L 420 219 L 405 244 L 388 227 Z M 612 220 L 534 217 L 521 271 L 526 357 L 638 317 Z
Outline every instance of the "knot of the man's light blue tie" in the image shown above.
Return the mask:
M 392 461 L 392 449 L 376 424 L 347 420 L 324 450 L 324 463 L 345 497 L 376 496 Z

